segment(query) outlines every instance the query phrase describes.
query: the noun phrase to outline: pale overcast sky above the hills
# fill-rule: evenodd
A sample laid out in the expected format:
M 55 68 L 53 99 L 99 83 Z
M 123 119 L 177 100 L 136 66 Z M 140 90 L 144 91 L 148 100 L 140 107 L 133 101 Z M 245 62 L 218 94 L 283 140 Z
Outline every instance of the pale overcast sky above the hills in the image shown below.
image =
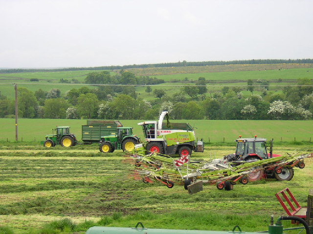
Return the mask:
M 0 67 L 312 59 L 313 0 L 0 0 Z

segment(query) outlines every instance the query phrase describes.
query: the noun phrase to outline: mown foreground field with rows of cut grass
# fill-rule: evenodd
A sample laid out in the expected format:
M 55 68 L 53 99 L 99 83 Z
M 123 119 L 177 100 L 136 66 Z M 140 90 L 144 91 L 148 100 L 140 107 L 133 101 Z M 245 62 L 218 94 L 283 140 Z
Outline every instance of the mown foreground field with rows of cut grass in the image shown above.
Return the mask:
M 274 152 L 293 150 L 292 145 L 277 146 Z M 233 151 L 232 146 L 206 146 L 204 153 L 194 153 L 193 158 L 208 160 Z M 291 181 L 237 184 L 232 191 L 205 185 L 202 192 L 189 195 L 183 186 L 168 189 L 159 183 L 142 183 L 123 155 L 121 151 L 104 155 L 93 145 L 46 150 L 34 144 L 2 142 L 0 227 L 15 234 L 60 233 L 43 230 L 51 222 L 69 218 L 78 226 L 63 234 L 83 234 L 94 225 L 134 227 L 139 221 L 148 228 L 230 231 L 240 225 L 246 232 L 264 231 L 270 215 L 275 220 L 285 215 L 275 193 L 289 187 L 305 206 L 313 187 L 313 162 L 307 160 L 304 169 L 295 169 Z M 284 226 L 291 224 L 286 221 Z

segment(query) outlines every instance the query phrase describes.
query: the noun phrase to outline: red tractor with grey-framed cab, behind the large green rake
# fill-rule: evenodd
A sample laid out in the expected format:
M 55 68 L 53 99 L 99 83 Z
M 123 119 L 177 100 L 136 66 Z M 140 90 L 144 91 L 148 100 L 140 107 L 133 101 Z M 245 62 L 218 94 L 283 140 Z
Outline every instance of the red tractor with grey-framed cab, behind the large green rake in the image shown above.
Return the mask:
M 256 160 L 265 160 L 272 157 L 278 157 L 281 155 L 276 155 L 272 153 L 272 143 L 273 139 L 269 141 L 269 150 L 267 148 L 265 138 L 241 138 L 236 139 L 237 148 L 235 154 L 230 154 L 224 157 L 225 160 L 231 162 L 233 165 L 238 165 L 243 161 L 252 162 Z M 304 164 L 302 162 L 302 164 Z M 255 173 L 250 173 L 247 175 L 249 181 L 259 180 L 262 177 L 276 178 L 277 180 L 291 180 L 293 177 L 293 166 L 298 166 L 303 168 L 304 165 L 299 163 L 299 165 L 284 165 L 282 167 L 275 168 L 265 168 L 265 170 L 259 170 Z M 256 167 L 257 169 L 259 167 Z M 265 174 L 265 175 L 264 175 Z

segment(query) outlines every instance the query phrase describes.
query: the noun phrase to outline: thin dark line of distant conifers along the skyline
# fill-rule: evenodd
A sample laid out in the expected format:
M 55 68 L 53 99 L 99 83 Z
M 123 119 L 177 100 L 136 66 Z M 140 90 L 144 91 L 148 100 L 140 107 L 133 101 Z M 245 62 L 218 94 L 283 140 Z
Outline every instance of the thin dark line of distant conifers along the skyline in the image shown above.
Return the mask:
M 149 63 L 133 64 L 124 66 L 100 66 L 100 67 L 66 67 L 54 69 L 0 69 L 0 73 L 20 73 L 20 72 L 58 72 L 58 71 L 85 71 L 85 70 L 116 70 L 129 68 L 148 68 L 148 67 L 185 67 L 185 66 L 213 66 L 213 65 L 241 65 L 241 64 L 279 64 L 279 63 L 313 63 L 313 59 L 249 59 L 231 61 L 202 61 L 202 62 L 168 62 L 168 63 Z

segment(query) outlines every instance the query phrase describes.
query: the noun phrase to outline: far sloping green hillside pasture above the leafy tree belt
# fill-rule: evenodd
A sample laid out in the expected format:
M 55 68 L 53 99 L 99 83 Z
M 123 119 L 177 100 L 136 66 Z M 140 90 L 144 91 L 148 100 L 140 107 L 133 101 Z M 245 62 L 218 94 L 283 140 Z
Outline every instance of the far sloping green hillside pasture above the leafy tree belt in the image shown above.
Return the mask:
M 244 68 L 244 66 L 243 66 Z M 201 67 L 199 68 L 201 70 Z M 61 90 L 61 94 L 64 95 L 68 90 L 73 88 L 79 88 L 85 85 L 84 79 L 89 72 L 94 71 L 63 71 L 63 72 L 30 72 L 30 73 L 12 73 L 12 74 L 0 74 L 1 94 L 8 98 L 14 98 L 14 89 L 12 83 L 17 83 L 18 87 L 25 87 L 31 91 L 43 89 L 49 91 L 52 88 L 58 88 Z M 111 74 L 116 74 L 111 72 Z M 282 69 L 282 70 L 257 70 L 257 71 L 232 71 L 232 72 L 205 72 L 205 73 L 186 73 L 186 74 L 172 74 L 172 75 L 158 75 L 153 76 L 162 78 L 166 81 L 164 84 L 151 85 L 152 89 L 165 89 L 167 95 L 171 96 L 181 88 L 181 85 L 194 85 L 195 81 L 199 77 L 204 77 L 206 80 L 211 80 L 216 83 L 208 83 L 208 91 L 219 92 L 224 86 L 240 86 L 246 89 L 247 79 L 262 79 L 270 81 L 269 89 L 272 91 L 281 91 L 283 89 L 280 85 L 295 84 L 298 78 L 313 78 L 313 68 L 294 68 L 294 69 Z M 30 78 L 38 78 L 38 82 L 29 81 Z M 59 83 L 61 78 L 68 79 L 75 78 L 81 82 L 80 84 L 66 84 Z M 185 81 L 185 78 L 187 80 Z M 282 82 L 277 82 L 281 78 Z M 174 82 L 173 82 L 174 81 Z M 289 81 L 289 82 L 288 82 Z M 260 83 L 254 83 L 260 85 Z M 89 86 L 92 88 L 93 86 Z M 166 88 L 164 88 L 166 87 Z M 145 93 L 146 87 L 136 87 L 136 91 L 139 93 L 140 98 L 147 100 L 153 100 L 155 97 L 151 94 Z M 257 89 L 257 87 L 256 87 Z M 208 95 L 208 94 L 206 94 Z M 187 96 L 186 96 L 187 97 Z

